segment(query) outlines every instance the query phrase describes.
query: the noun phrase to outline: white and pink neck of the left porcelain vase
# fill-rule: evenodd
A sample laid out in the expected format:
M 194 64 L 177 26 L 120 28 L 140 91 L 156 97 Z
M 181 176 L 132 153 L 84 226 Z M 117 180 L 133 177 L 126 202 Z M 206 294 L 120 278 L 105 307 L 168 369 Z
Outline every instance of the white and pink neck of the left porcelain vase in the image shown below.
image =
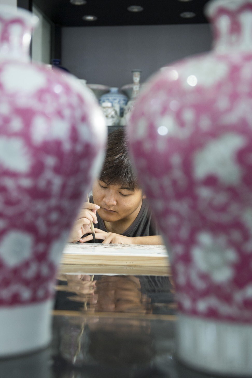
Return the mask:
M 38 17 L 24 9 L 0 6 L 0 59 L 28 61 L 31 33 Z

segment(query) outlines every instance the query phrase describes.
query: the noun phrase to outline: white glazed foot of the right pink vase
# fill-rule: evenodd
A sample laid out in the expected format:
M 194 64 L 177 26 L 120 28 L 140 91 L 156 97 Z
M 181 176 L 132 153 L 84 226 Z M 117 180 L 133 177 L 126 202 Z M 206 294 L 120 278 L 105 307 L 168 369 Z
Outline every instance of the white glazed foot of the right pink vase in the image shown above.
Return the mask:
M 177 356 L 207 373 L 251 376 L 252 325 L 180 314 Z

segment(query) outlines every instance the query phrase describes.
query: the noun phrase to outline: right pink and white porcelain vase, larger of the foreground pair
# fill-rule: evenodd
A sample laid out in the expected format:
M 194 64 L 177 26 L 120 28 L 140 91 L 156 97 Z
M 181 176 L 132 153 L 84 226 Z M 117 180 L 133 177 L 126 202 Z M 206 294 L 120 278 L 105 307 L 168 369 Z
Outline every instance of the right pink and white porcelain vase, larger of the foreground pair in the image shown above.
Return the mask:
M 252 0 L 216 0 L 214 49 L 141 93 L 128 129 L 177 290 L 177 355 L 252 375 Z

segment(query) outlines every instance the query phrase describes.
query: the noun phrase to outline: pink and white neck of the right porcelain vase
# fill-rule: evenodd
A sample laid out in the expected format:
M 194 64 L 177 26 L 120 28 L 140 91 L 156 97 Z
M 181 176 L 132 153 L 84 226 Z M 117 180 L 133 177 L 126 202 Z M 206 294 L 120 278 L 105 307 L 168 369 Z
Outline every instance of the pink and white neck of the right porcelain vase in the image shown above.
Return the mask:
M 215 0 L 206 15 L 214 28 L 214 50 L 252 52 L 252 0 Z

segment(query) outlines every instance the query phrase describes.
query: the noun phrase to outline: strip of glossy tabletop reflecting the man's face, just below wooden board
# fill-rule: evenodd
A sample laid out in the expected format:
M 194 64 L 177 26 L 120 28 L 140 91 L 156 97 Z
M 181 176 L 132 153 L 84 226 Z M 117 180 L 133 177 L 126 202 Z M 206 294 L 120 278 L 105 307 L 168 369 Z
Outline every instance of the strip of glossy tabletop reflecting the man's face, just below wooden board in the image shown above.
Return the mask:
M 174 314 L 169 276 L 60 274 L 55 310 L 95 313 Z

